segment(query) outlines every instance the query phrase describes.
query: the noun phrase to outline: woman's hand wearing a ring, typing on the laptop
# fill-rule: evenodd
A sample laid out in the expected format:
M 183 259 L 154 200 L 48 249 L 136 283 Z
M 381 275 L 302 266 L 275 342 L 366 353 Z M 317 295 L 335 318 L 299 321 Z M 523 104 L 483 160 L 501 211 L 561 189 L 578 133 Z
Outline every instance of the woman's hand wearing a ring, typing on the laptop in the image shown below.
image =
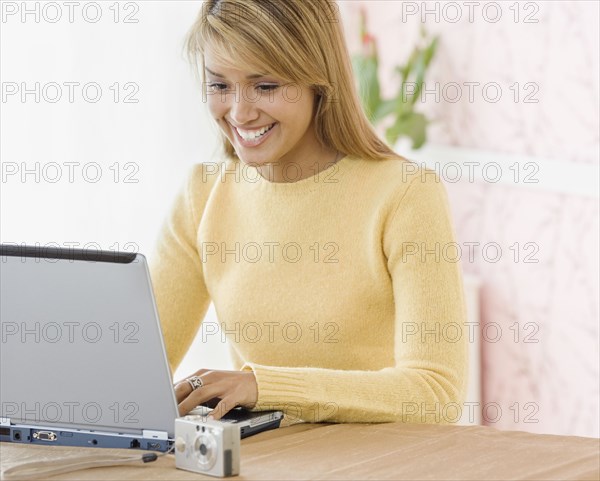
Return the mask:
M 180 416 L 184 416 L 200 404 L 219 398 L 219 403 L 210 413 L 217 420 L 236 406 L 252 409 L 258 399 L 258 385 L 252 371 L 200 369 L 192 376 L 200 377 L 202 387 L 193 390 L 187 378 L 175 384 Z

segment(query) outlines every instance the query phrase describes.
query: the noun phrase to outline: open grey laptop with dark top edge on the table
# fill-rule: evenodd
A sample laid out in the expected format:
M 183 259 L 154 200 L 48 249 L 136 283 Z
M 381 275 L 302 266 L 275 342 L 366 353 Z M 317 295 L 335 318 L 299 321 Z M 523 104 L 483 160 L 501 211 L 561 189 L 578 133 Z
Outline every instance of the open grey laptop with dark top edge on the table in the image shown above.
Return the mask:
M 143 255 L 0 245 L 0 325 L 0 441 L 171 447 L 179 414 Z M 222 421 L 244 438 L 282 418 Z

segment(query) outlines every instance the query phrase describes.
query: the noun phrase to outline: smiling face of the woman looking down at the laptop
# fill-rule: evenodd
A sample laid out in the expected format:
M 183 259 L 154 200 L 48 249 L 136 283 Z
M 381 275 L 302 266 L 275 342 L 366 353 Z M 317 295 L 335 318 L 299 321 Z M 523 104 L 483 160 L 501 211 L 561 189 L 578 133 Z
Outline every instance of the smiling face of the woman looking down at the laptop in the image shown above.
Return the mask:
M 310 88 L 264 72 L 227 68 L 209 49 L 204 62 L 209 111 L 240 160 L 259 168 L 263 177 L 268 172 L 275 182 L 289 164 L 307 177 L 320 157 L 331 161 L 330 150 L 314 133 L 315 94 Z

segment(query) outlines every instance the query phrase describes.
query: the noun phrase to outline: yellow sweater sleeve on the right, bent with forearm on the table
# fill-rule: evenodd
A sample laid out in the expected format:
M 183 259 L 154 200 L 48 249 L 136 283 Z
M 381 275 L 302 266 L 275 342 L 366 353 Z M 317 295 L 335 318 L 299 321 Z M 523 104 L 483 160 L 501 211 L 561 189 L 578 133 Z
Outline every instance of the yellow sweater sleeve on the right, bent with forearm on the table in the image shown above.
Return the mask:
M 395 303 L 395 365 L 378 371 L 246 363 L 255 410 L 306 422 L 455 422 L 467 375 L 466 308 L 447 194 L 433 171 L 399 194 L 383 251 Z M 456 245 L 456 244 L 454 244 Z M 439 255 L 436 255 L 436 249 Z M 456 252 L 456 251 L 454 251 Z

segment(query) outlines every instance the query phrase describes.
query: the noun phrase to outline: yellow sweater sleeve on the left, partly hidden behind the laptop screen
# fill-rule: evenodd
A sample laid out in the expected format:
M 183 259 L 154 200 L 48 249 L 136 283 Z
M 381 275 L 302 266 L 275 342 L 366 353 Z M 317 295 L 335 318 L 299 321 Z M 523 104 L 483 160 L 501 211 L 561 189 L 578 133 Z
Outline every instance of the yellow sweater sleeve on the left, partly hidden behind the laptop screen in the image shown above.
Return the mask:
M 210 305 L 197 250 L 201 210 L 208 196 L 203 165 L 195 165 L 159 232 L 150 277 L 171 373 L 174 373 Z

